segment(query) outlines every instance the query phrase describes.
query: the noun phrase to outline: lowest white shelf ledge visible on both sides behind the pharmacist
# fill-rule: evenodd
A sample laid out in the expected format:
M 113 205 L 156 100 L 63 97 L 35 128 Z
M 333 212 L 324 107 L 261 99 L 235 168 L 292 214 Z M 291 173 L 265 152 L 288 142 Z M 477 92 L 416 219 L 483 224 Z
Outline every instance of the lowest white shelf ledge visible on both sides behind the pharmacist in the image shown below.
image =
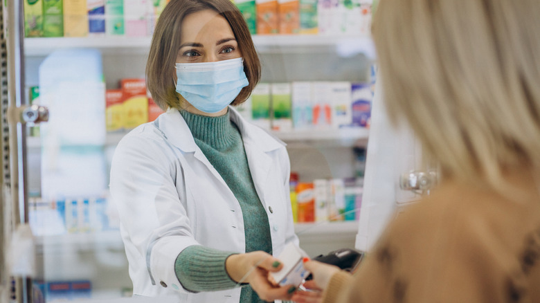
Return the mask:
M 294 232 L 300 238 L 307 237 L 350 237 L 358 232 L 358 221 L 333 221 L 315 223 L 295 223 Z M 35 237 L 38 251 L 64 251 L 64 248 L 75 248 L 79 251 L 94 250 L 96 248 L 123 249 L 120 230 L 102 230 L 98 232 L 77 232 L 62 235 L 48 235 Z M 71 250 L 70 249 L 70 250 Z

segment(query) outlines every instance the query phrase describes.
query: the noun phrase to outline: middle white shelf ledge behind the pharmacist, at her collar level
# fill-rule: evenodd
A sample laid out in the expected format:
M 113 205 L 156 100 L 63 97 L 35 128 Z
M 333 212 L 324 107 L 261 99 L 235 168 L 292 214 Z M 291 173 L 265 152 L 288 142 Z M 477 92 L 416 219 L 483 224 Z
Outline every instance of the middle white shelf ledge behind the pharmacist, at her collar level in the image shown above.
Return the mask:
M 352 146 L 358 141 L 367 141 L 369 129 L 364 127 L 350 127 L 343 129 L 272 131 L 271 133 L 287 143 L 330 141 L 332 143 L 337 142 L 341 146 Z M 107 134 L 105 145 L 116 145 L 125 134 L 127 134 L 127 131 L 118 131 Z M 26 144 L 29 149 L 37 149 L 41 146 L 39 137 L 28 137 Z

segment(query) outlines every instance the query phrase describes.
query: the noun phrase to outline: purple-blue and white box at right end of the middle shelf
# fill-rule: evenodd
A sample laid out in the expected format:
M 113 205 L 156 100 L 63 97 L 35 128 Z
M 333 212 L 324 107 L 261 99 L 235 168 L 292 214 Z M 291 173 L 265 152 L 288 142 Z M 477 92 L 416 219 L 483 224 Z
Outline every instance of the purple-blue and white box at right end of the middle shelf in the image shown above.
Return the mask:
M 372 100 L 371 83 L 353 83 L 352 95 L 352 126 L 368 127 L 371 117 Z

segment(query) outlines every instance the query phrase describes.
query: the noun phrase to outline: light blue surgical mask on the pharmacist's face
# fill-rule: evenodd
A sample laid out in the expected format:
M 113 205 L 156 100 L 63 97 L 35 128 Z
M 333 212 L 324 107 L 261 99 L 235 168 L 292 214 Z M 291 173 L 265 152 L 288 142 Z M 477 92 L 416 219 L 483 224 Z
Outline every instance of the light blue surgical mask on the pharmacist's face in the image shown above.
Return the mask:
M 217 113 L 249 84 L 240 58 L 218 62 L 177 63 L 177 92 L 199 111 Z

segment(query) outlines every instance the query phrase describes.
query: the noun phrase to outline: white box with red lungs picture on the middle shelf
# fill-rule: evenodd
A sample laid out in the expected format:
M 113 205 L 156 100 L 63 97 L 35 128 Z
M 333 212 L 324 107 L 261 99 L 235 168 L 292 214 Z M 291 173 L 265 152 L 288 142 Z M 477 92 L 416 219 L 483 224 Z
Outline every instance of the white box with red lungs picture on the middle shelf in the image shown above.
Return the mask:
M 313 126 L 332 127 L 332 83 L 313 82 Z

